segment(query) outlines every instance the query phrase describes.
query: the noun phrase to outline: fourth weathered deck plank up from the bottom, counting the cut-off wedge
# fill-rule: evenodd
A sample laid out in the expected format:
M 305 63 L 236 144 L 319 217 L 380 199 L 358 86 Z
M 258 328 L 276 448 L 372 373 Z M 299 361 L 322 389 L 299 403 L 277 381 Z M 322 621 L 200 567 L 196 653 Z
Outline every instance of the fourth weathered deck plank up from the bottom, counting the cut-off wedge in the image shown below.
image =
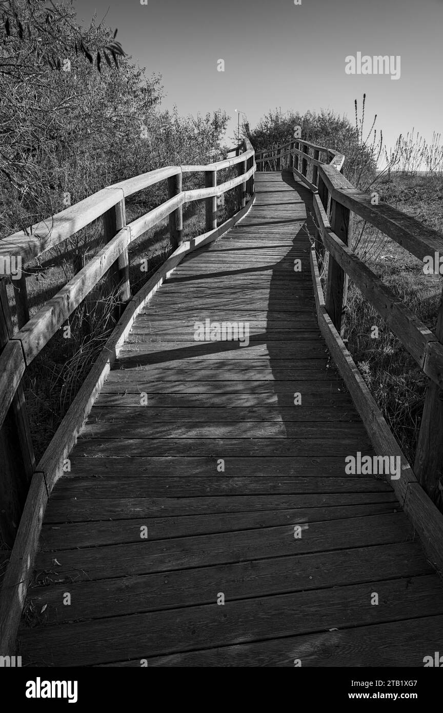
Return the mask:
M 46 572 L 53 579 L 98 580 L 109 577 L 169 572 L 204 565 L 235 563 L 278 555 L 307 554 L 345 549 L 349 546 L 349 520 L 330 520 L 327 523 L 296 523 L 302 528 L 301 538 L 294 538 L 294 524 L 283 527 L 239 530 L 238 532 L 196 535 L 107 547 L 63 550 L 36 555 L 36 570 L 44 578 Z M 412 539 L 412 528 L 403 513 L 368 515 L 353 518 L 353 546 L 405 542 Z M 278 549 L 276 549 L 278 548 Z M 57 560 L 54 562 L 54 560 Z M 437 583 L 443 607 L 442 589 Z M 402 585 L 405 589 L 405 585 Z M 368 594 L 369 597 L 369 594 Z M 370 598 L 370 597 L 369 597 Z M 368 603 L 370 607 L 370 602 Z M 423 613 L 423 612 L 422 612 Z M 437 612 L 433 612 L 437 613 Z M 443 609 L 442 609 L 443 613 Z

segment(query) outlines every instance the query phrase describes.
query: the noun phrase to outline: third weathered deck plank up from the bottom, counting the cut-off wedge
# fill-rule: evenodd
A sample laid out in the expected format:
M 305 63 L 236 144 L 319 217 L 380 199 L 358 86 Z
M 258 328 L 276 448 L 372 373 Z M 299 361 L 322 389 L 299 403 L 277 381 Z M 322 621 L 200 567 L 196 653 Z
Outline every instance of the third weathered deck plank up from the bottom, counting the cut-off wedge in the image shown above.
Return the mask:
M 46 605 L 43 625 L 66 620 L 101 619 L 168 607 L 210 604 L 224 583 L 231 600 L 300 590 L 372 583 L 395 572 L 410 578 L 432 573 L 417 543 L 375 545 L 313 555 L 288 555 L 219 567 L 70 583 L 71 605 L 61 606 L 66 584 L 30 590 L 36 611 Z M 284 647 L 283 647 L 284 648 Z M 138 662 L 140 665 L 140 662 Z

